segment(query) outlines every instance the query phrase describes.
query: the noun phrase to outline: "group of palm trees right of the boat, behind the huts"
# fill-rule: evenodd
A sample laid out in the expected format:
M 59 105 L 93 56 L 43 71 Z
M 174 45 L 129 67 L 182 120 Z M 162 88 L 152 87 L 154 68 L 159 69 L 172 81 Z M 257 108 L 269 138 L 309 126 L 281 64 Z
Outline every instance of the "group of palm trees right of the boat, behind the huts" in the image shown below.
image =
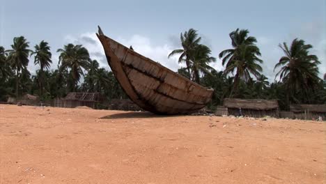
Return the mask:
M 279 99 L 283 109 L 290 103 L 326 103 L 326 84 L 318 77 L 320 61 L 316 55 L 309 54 L 312 46 L 304 40 L 295 39 L 290 47 L 286 43 L 279 45 L 285 56 L 275 65 L 274 70 L 279 71 L 270 84 L 262 75 L 263 60 L 256 38 L 249 36 L 247 29 L 236 29 L 229 36 L 232 48 L 219 53 L 225 68 L 222 72 L 208 65 L 215 58 L 200 43 L 201 37 L 194 29 L 181 33 L 182 48 L 169 54 L 169 57 L 180 54 L 178 61 L 186 66 L 178 70 L 181 75 L 215 89 L 212 105 L 221 104 L 227 97 Z

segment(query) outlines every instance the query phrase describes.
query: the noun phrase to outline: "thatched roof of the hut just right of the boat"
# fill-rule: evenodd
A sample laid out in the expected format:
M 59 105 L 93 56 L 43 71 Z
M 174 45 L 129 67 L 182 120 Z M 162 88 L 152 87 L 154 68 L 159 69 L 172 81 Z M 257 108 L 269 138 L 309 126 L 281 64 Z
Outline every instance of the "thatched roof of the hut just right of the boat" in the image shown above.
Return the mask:
M 277 100 L 226 98 L 224 99 L 224 107 L 255 110 L 278 109 L 279 103 Z

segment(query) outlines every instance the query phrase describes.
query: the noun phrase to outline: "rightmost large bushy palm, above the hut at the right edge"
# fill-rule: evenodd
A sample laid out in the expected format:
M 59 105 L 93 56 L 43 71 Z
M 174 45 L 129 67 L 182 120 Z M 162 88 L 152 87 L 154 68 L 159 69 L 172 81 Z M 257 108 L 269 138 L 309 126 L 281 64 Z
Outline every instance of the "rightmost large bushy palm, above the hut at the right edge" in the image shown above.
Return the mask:
M 309 89 L 314 89 L 320 78 L 318 77 L 318 57 L 309 54 L 312 45 L 305 45 L 304 40 L 295 38 L 290 47 L 286 43 L 279 45 L 285 56 L 279 59 L 274 70 L 280 68 L 276 77 L 279 77 L 286 84 L 287 103 L 290 96 L 295 98 L 295 93 L 303 90 L 306 98 L 309 99 Z

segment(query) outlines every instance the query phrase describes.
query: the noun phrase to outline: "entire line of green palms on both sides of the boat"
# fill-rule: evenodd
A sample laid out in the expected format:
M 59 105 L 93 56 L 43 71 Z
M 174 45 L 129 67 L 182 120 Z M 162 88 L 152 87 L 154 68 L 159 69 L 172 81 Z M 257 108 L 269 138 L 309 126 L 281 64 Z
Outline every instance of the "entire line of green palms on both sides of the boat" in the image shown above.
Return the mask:
M 277 74 L 270 83 L 262 74 L 263 60 L 256 38 L 249 36 L 247 29 L 236 29 L 229 36 L 231 48 L 218 55 L 224 71 L 210 66 L 217 59 L 194 29 L 180 34 L 180 49 L 168 56 L 178 55 L 178 62 L 185 63 L 178 69 L 180 75 L 215 89 L 210 108 L 222 105 L 224 98 L 277 99 L 281 109 L 288 109 L 293 103 L 326 103 L 326 74 L 324 80 L 318 77 L 320 61 L 309 53 L 312 46 L 304 40 L 296 38 L 290 45 L 279 45 L 284 56 L 275 65 Z M 10 47 L 6 50 L 0 46 L 0 101 L 25 93 L 39 95 L 42 100 L 64 97 L 69 92 L 99 92 L 107 100 L 127 98 L 113 73 L 100 68 L 82 45 L 69 43 L 57 49 L 60 55 L 55 70 L 49 70 L 52 53 L 46 41 L 31 50 L 26 38 L 20 36 L 13 39 Z M 36 75 L 27 69 L 30 58 L 39 68 Z

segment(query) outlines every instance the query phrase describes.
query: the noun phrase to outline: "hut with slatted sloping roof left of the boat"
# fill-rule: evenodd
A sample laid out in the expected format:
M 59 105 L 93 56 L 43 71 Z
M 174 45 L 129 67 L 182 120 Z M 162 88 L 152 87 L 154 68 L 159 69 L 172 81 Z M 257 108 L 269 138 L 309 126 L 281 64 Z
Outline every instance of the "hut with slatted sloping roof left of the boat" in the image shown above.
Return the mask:
M 87 106 L 97 109 L 98 105 L 103 102 L 100 93 L 68 93 L 65 98 L 54 99 L 54 107 L 68 107 L 75 108 L 78 106 Z

